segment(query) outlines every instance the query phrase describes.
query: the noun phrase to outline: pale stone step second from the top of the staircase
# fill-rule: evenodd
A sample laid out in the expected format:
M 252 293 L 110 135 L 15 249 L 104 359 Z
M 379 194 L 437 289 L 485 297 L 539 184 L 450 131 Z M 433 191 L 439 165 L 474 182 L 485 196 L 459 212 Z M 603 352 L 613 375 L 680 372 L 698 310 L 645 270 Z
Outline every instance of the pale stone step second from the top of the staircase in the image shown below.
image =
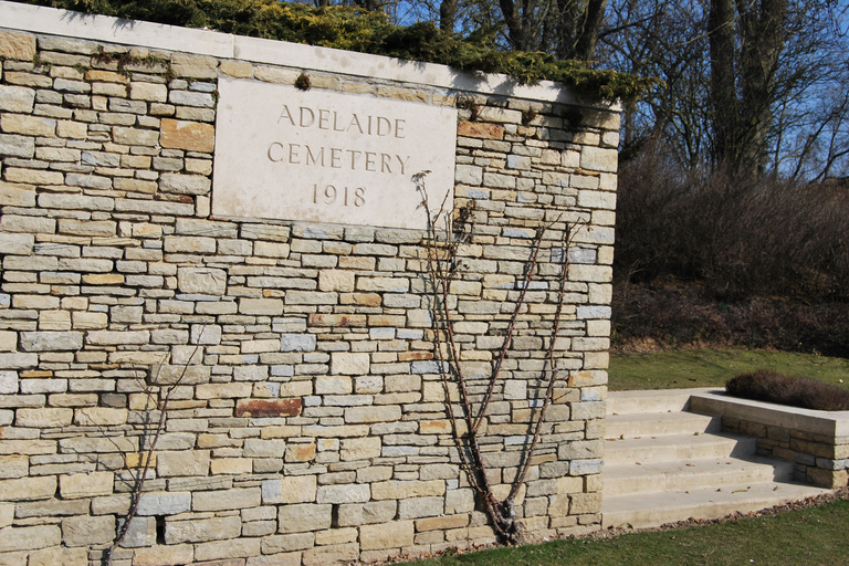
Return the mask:
M 695 434 L 722 429 L 722 418 L 694 412 L 640 412 L 605 419 L 605 438 L 641 438 L 662 434 Z

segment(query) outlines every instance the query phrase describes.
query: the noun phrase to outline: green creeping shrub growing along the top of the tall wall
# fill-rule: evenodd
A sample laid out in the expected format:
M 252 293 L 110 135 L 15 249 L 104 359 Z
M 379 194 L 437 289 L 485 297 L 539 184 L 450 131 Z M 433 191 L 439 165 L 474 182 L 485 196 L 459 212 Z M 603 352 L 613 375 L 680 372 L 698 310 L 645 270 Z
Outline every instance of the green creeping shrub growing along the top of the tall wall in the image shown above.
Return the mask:
M 460 39 L 431 23 L 400 27 L 382 12 L 349 7 L 313 8 L 277 0 L 20 0 L 86 13 L 209 28 L 411 61 L 441 63 L 468 72 L 504 73 L 520 83 L 556 81 L 579 96 L 630 102 L 654 81 L 545 53 L 506 52 L 481 38 Z

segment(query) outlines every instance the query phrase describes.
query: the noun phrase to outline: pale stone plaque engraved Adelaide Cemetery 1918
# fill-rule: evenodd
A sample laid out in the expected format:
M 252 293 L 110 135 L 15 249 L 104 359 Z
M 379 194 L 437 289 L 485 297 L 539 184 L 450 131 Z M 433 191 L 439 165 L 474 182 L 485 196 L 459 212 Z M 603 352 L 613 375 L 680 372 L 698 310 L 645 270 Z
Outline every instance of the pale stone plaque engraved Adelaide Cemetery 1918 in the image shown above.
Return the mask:
M 452 208 L 457 109 L 219 81 L 212 213 L 423 229 Z

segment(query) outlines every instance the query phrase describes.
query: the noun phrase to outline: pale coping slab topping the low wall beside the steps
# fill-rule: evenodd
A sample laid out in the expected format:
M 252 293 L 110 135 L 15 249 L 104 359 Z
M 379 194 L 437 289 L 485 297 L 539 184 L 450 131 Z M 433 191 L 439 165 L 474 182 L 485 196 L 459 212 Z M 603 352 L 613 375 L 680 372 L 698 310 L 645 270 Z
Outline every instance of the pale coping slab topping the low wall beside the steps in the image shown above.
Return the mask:
M 811 434 L 849 437 L 849 411 L 816 411 L 732 397 L 722 389 L 695 392 L 690 410 L 759 422 Z

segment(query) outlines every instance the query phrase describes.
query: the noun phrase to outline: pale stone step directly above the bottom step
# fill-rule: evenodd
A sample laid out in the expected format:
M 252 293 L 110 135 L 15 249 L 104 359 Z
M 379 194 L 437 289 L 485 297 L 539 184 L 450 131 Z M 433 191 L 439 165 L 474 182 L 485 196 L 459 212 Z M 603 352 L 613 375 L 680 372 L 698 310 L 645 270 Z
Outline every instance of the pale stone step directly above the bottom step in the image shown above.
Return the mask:
M 605 496 L 793 480 L 793 462 L 766 458 L 701 458 L 605 467 Z

